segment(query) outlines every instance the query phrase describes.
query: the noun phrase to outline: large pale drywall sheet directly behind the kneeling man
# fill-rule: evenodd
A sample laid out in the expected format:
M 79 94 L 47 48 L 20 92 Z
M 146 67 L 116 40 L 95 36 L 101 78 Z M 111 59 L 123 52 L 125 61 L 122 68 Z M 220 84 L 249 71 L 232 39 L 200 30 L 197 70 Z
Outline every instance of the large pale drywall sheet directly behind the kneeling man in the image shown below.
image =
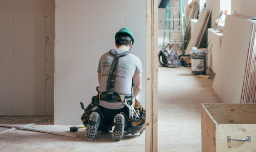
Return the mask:
M 115 33 L 131 29 L 131 51 L 143 66 L 139 101 L 145 107 L 146 1 L 56 0 L 54 124 L 82 124 L 80 117 L 97 95 L 97 67 L 101 55 L 115 48 Z

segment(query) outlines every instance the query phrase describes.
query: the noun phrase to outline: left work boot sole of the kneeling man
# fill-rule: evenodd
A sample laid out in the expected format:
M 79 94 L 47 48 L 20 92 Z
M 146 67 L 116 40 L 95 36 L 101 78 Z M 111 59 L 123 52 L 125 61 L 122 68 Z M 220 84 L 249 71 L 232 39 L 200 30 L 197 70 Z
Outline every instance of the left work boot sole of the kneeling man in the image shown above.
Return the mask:
M 93 141 L 101 122 L 101 117 L 97 112 L 93 112 L 90 115 L 89 123 L 86 125 L 85 136 L 88 141 Z

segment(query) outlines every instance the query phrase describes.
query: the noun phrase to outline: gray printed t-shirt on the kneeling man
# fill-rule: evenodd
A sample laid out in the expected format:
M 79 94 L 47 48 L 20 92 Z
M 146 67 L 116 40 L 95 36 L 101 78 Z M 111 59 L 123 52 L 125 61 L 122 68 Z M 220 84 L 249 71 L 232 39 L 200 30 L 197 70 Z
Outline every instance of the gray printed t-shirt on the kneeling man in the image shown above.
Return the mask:
M 125 50 L 116 50 L 117 53 L 125 52 Z M 110 71 L 110 67 L 114 56 L 109 52 L 103 54 L 99 60 L 98 73 L 101 73 L 101 80 L 99 83 L 99 92 L 106 91 L 107 80 Z M 127 56 L 120 57 L 117 65 L 116 72 L 116 83 L 114 92 L 121 93 L 124 95 L 131 94 L 132 88 L 132 77 L 134 73 L 142 72 L 142 63 L 140 59 L 132 53 Z M 125 106 L 124 103 L 108 103 L 101 100 L 99 105 L 108 109 L 120 109 Z

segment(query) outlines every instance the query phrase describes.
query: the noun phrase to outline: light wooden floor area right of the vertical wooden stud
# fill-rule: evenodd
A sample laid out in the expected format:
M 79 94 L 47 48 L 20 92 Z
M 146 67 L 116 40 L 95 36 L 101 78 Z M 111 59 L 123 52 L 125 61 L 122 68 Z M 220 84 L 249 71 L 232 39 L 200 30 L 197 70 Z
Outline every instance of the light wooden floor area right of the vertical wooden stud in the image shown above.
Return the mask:
M 191 68 L 158 69 L 158 151 L 201 152 L 201 103 L 221 103 L 213 79 Z

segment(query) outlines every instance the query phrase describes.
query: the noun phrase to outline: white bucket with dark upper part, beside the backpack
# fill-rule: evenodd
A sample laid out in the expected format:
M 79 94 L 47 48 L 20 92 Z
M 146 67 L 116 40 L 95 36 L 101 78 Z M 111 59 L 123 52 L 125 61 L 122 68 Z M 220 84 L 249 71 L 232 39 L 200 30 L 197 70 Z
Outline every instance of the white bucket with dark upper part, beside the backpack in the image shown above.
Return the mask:
M 206 56 L 204 51 L 197 51 L 191 55 L 192 75 L 206 75 Z

